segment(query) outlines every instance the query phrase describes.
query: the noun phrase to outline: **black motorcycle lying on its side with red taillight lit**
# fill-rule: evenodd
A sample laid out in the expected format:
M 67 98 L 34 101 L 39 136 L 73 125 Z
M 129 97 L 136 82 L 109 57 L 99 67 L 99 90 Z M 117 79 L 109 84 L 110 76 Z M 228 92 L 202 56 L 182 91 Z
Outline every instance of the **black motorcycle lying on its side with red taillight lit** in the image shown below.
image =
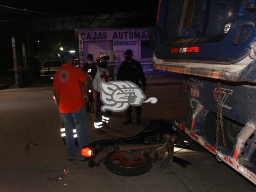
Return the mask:
M 163 160 L 161 167 L 173 161 L 173 147 L 178 131 L 162 120 L 153 120 L 141 133 L 129 138 L 114 138 L 90 143 L 81 154 L 90 158 L 89 167 L 99 166 L 121 176 L 137 176 L 148 172 L 152 162 Z M 168 155 L 166 155 L 168 154 Z

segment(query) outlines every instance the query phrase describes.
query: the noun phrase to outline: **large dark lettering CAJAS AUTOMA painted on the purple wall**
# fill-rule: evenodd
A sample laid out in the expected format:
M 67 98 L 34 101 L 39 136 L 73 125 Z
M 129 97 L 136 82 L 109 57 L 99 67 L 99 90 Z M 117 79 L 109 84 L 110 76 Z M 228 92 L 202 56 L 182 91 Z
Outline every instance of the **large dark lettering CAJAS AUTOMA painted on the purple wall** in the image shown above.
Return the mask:
M 83 32 L 81 33 L 82 40 L 106 40 L 108 39 L 107 32 Z M 148 38 L 148 31 L 115 31 L 112 39 L 133 39 L 133 38 Z

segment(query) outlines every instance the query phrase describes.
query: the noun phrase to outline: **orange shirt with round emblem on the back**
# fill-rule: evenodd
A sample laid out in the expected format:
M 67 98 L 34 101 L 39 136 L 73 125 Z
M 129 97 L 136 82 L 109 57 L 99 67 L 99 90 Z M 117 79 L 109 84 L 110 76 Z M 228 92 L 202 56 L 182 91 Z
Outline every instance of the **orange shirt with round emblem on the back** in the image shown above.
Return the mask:
M 54 91 L 59 92 L 59 112 L 72 113 L 84 105 L 82 83 L 86 80 L 83 70 L 72 64 L 62 64 L 54 75 Z

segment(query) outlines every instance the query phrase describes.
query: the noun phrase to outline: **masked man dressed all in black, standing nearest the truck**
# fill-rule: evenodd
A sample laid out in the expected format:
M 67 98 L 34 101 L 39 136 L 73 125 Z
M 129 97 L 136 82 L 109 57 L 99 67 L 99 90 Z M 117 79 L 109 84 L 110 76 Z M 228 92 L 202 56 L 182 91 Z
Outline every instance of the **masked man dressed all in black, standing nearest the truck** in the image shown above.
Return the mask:
M 125 55 L 125 61 L 123 61 L 119 67 L 116 80 L 122 80 L 122 81 L 128 80 L 138 85 L 138 87 L 141 87 L 139 83 L 139 80 L 141 80 L 142 82 L 141 89 L 143 92 L 145 92 L 146 78 L 140 62 L 132 58 L 133 51 L 131 51 L 130 49 L 127 49 L 123 55 Z M 135 106 L 135 108 L 136 108 L 135 109 L 136 123 L 137 125 L 140 125 L 141 124 L 141 106 Z M 132 123 L 131 112 L 132 112 L 131 106 L 129 106 L 129 108 L 126 110 L 126 113 L 125 113 L 127 119 L 126 121 L 123 122 L 124 125 Z

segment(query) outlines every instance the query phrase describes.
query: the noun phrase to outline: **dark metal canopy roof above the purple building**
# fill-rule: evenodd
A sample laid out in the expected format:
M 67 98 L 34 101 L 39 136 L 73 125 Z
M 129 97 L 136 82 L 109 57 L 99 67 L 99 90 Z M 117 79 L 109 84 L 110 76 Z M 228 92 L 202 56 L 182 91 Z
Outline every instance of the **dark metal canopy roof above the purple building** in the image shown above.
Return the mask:
M 73 31 L 78 28 L 147 27 L 155 25 L 156 13 L 127 12 L 32 19 L 36 31 Z

